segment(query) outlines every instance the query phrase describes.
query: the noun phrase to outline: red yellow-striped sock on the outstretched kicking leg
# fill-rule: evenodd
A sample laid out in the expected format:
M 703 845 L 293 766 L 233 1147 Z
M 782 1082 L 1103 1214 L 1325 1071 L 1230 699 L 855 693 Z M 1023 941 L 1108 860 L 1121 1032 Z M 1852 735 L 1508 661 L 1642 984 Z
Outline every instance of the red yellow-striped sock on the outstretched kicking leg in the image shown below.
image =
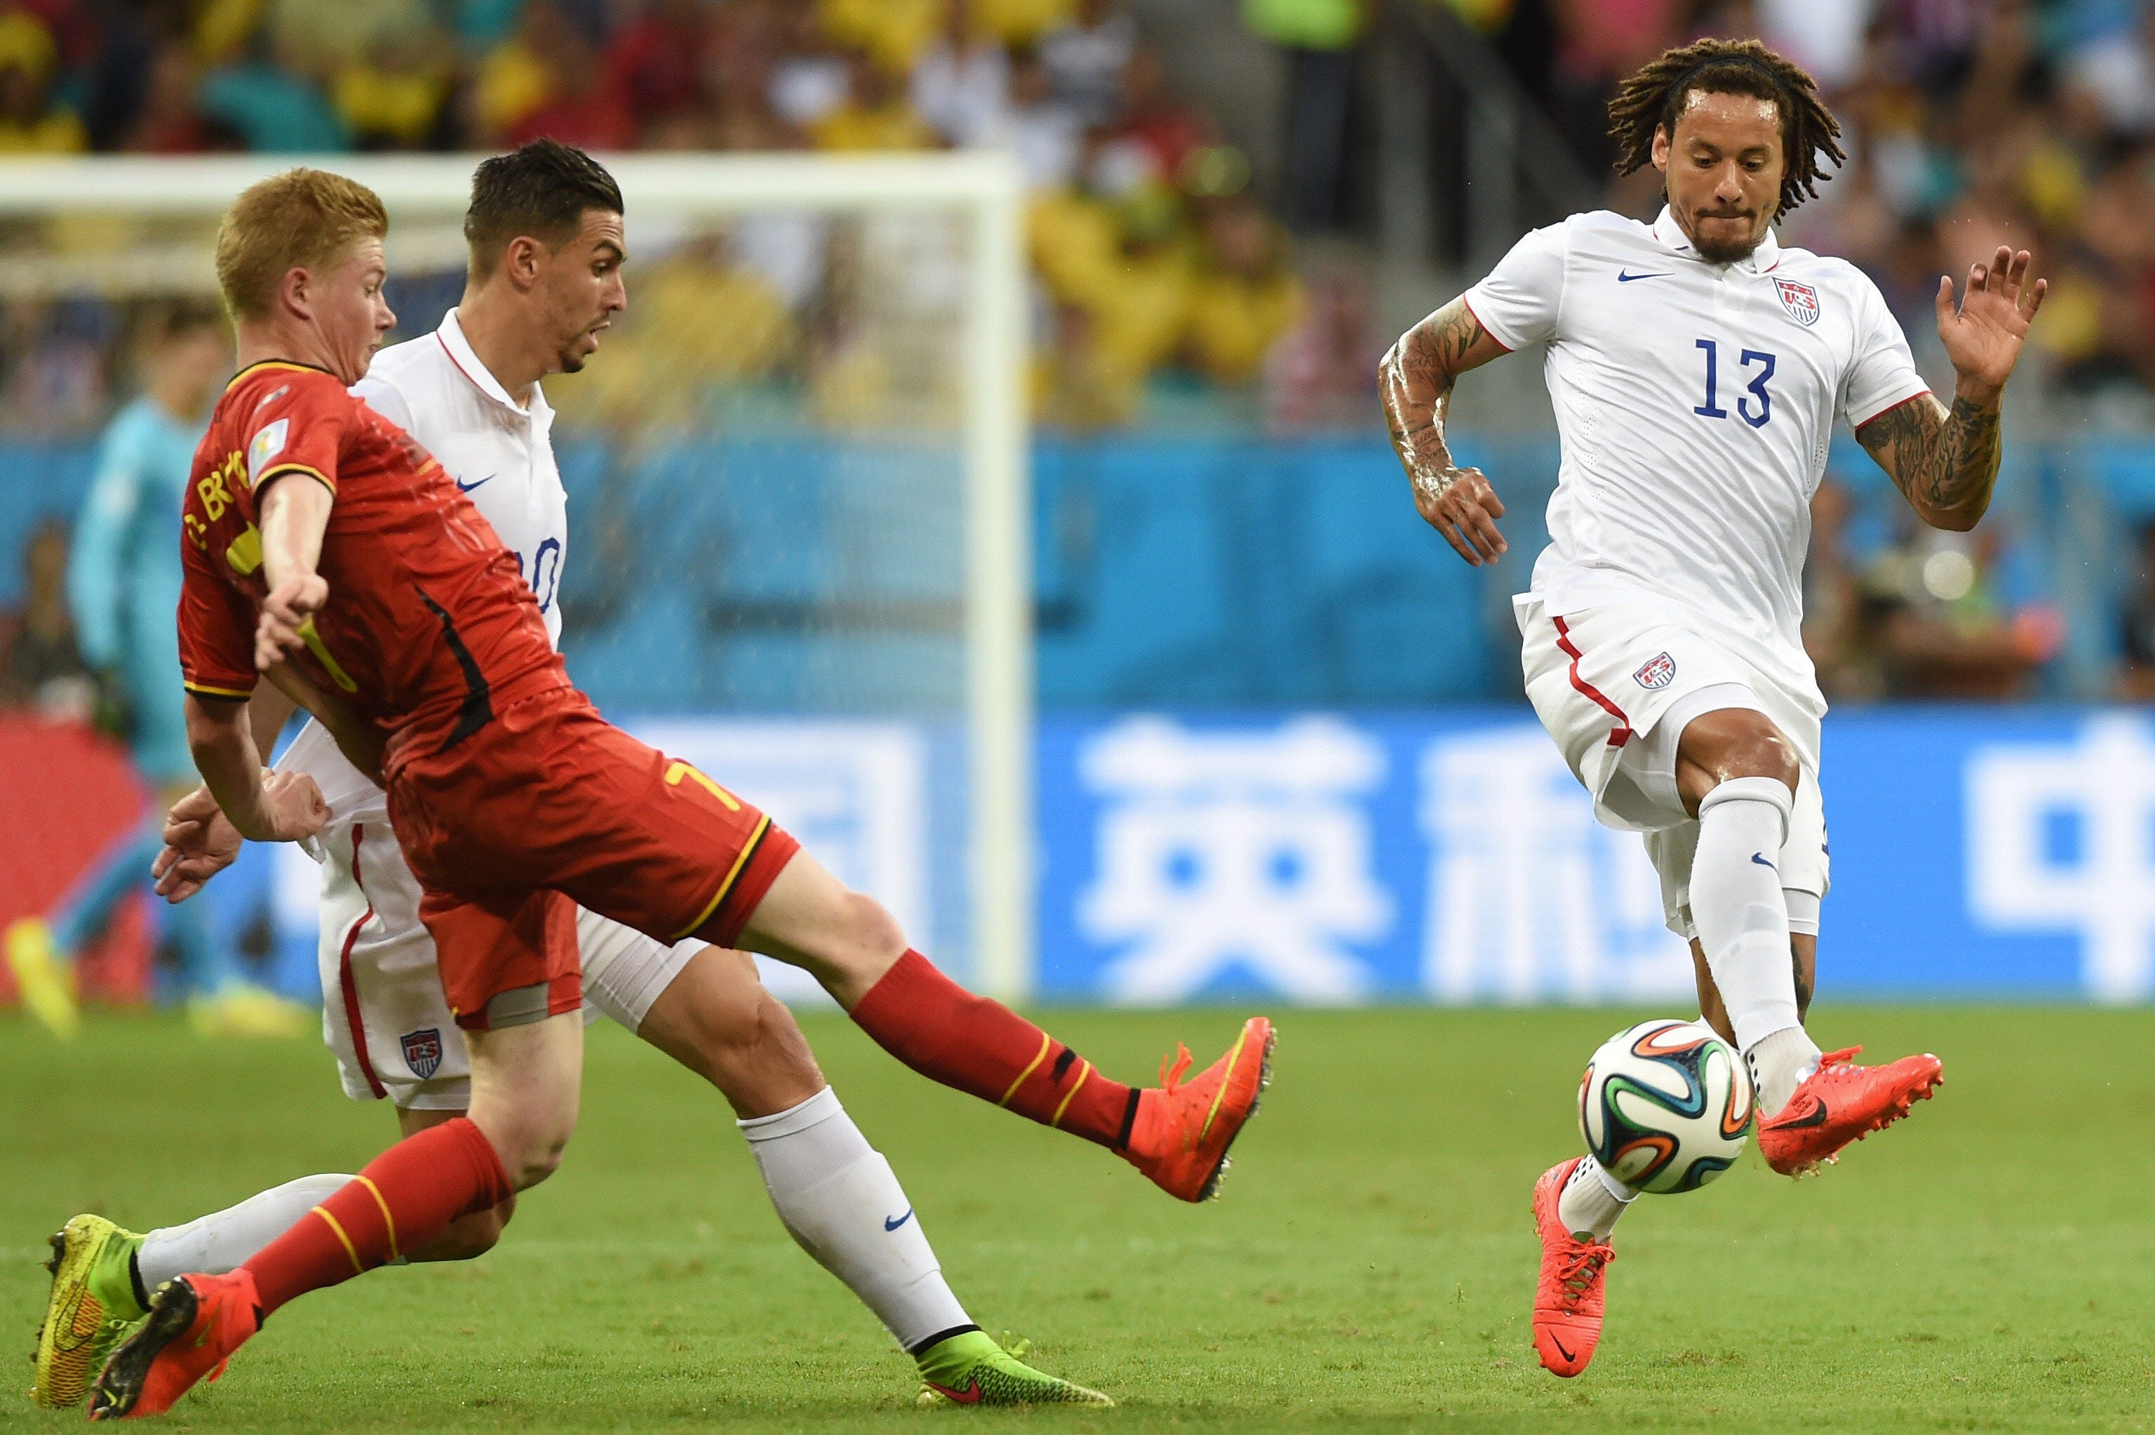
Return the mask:
M 929 1079 L 1112 1151 L 1129 1142 L 1136 1090 L 1110 1082 L 1002 1002 L 965 991 L 920 952 L 899 957 L 851 1017 Z

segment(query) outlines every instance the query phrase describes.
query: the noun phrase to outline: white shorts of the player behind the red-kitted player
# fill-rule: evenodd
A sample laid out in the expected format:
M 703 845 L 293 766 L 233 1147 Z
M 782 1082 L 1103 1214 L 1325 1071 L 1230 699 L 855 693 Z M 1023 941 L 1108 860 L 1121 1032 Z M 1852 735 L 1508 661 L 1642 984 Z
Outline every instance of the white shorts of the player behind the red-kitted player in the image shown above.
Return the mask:
M 418 877 L 386 821 L 321 834 L 321 1039 L 345 1095 L 399 1107 L 472 1105 L 472 1060 L 442 995 L 433 937 L 418 920 Z M 584 1013 L 631 1032 L 703 942 L 666 946 L 597 911 L 575 914 Z

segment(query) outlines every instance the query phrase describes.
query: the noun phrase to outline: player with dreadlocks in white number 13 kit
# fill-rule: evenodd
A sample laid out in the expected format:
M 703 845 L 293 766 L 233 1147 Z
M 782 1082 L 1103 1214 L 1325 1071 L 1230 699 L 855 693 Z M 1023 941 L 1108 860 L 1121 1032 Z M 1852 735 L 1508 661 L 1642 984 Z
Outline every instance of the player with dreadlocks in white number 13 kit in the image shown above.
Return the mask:
M 2011 250 L 1970 267 L 1959 304 L 1939 280 L 1948 407 L 1860 269 L 1774 239 L 1840 162 L 1810 75 L 1756 41 L 1698 41 L 1631 75 L 1610 123 L 1618 172 L 1662 172 L 1659 218 L 1526 235 L 1384 358 L 1386 416 L 1420 515 L 1468 562 L 1496 562 L 1504 504 L 1452 461 L 1446 407 L 1468 368 L 1541 349 L 1562 465 L 1549 547 L 1513 599 L 1526 692 L 1595 814 L 1644 834 L 1700 1011 L 1750 1067 L 1758 1151 L 1802 1174 L 1939 1082 L 1935 1056 L 1858 1067 L 1804 1032 L 1827 888 L 1825 698 L 1799 633 L 1808 502 L 1845 416 L 1927 524 L 1974 528 L 2045 284 Z M 1556 1375 L 1593 1360 L 1631 1196 L 1593 1157 L 1534 1187 L 1534 1345 Z

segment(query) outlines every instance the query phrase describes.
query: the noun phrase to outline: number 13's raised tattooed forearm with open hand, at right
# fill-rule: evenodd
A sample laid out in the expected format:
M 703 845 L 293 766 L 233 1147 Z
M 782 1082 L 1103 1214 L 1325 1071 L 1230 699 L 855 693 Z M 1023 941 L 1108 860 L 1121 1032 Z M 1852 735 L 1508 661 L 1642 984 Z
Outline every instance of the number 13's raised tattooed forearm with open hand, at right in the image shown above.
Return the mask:
M 1970 267 L 1968 297 L 1955 310 L 1952 280 L 1942 278 L 1937 336 L 1952 360 L 1952 407 L 1918 394 L 1855 431 L 1858 442 L 1933 528 L 1968 532 L 1991 506 L 2000 455 L 1998 405 L 2028 323 L 2049 289 L 2047 280 L 2026 280 L 2028 250 L 1998 250 L 1989 265 Z

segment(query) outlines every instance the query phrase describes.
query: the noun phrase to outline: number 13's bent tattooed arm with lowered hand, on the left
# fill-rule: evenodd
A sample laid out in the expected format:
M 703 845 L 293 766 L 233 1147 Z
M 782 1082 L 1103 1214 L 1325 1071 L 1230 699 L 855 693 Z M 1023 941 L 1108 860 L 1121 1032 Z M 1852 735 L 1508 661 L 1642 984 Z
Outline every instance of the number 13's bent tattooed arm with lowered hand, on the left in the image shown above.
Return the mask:
M 1414 485 L 1414 506 L 1474 567 L 1504 556 L 1504 534 L 1496 530 L 1504 504 L 1478 468 L 1452 463 L 1444 416 L 1459 375 L 1504 351 L 1465 299 L 1452 299 L 1401 334 L 1377 366 L 1384 418 L 1392 429 L 1392 450 Z

